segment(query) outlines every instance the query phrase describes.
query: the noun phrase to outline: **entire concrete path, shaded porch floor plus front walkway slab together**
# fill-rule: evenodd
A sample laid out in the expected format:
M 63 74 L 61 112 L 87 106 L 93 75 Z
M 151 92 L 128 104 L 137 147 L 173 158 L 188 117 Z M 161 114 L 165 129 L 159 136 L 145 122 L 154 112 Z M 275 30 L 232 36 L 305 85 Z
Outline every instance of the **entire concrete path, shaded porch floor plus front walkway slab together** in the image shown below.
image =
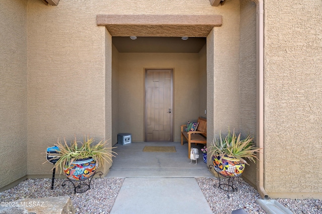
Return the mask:
M 175 146 L 177 152 L 143 152 L 145 145 Z M 118 145 L 107 177 L 125 177 L 111 214 L 211 214 L 195 177 L 212 177 L 203 162 L 188 158 L 188 144 L 132 142 Z

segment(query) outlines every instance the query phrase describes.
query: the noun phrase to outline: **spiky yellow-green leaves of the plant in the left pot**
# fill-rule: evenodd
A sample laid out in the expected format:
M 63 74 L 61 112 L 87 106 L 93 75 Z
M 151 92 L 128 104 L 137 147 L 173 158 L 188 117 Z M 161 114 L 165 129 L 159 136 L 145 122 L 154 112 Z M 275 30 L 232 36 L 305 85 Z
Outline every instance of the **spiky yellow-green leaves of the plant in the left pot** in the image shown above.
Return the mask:
M 54 164 L 54 168 L 58 169 L 60 167 L 60 173 L 62 172 L 63 167 L 70 167 L 70 164 L 77 159 L 84 158 L 93 158 L 99 166 L 104 167 L 104 162 L 113 162 L 112 157 L 115 157 L 114 154 L 117 154 L 115 151 L 112 151 L 116 147 L 106 147 L 107 140 L 101 140 L 99 143 L 95 144 L 93 137 L 90 138 L 89 135 L 84 135 L 84 141 L 77 141 L 76 136 L 70 141 L 68 145 L 65 138 L 62 143 L 58 138 L 55 146 L 59 148 L 57 157 L 59 158 Z M 114 153 L 114 154 L 113 154 Z

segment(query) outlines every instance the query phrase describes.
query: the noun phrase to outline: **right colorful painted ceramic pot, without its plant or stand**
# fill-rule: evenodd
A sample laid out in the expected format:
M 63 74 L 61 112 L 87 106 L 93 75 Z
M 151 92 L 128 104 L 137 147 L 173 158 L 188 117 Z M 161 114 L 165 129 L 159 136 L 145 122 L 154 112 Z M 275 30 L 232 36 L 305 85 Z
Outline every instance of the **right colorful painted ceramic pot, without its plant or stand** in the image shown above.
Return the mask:
M 245 169 L 245 163 L 236 158 L 212 157 L 214 169 L 225 177 L 239 177 Z

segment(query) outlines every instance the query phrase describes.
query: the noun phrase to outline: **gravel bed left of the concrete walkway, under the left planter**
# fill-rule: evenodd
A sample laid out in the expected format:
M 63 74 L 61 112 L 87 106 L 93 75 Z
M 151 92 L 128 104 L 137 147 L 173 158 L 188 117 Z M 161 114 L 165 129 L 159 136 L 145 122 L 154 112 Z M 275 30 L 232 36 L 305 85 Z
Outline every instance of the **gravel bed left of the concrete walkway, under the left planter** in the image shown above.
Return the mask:
M 0 192 L 0 201 L 14 201 L 23 198 L 38 198 L 49 196 L 69 196 L 78 214 L 110 213 L 124 178 L 93 178 L 91 189 L 84 193 L 74 194 L 70 182 L 61 186 L 65 179 L 55 179 L 51 190 L 51 179 L 27 179 L 17 186 Z M 68 184 L 69 183 L 69 184 Z

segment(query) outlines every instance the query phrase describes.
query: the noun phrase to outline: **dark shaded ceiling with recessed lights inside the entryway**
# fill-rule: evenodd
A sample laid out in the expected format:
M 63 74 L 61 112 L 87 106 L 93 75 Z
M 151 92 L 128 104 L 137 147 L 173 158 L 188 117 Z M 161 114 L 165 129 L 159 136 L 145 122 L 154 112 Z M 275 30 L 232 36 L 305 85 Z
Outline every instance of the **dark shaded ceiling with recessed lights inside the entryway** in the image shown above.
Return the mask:
M 205 37 L 112 37 L 112 43 L 120 53 L 199 53 L 206 44 Z

